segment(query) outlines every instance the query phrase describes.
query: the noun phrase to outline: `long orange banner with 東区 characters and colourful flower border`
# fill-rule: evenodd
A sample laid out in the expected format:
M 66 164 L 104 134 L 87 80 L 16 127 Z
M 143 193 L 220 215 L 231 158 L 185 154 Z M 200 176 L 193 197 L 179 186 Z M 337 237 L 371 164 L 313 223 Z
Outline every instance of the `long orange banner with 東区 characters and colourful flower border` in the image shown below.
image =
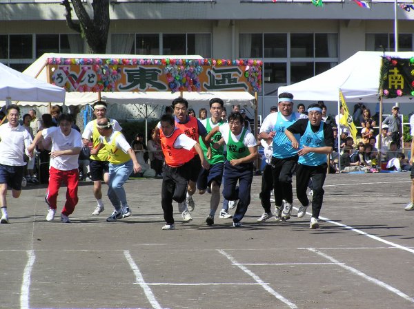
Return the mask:
M 48 58 L 48 78 L 67 92 L 260 92 L 255 59 Z

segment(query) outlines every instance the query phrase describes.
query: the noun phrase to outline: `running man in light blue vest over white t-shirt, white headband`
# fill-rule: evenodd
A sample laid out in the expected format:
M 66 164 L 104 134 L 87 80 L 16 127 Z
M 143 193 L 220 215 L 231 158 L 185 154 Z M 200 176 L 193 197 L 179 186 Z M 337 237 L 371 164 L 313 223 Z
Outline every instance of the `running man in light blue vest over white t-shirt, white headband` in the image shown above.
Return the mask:
M 260 138 L 273 140 L 273 187 L 275 190 L 275 220 L 288 220 L 292 213 L 292 176 L 297 164 L 297 149 L 294 149 L 285 130 L 306 115 L 293 113 L 293 94 L 279 94 L 277 113 L 269 114 L 260 127 Z M 302 116 L 301 116 L 302 115 Z M 299 134 L 296 135 L 299 139 Z M 282 212 L 283 211 L 283 212 Z

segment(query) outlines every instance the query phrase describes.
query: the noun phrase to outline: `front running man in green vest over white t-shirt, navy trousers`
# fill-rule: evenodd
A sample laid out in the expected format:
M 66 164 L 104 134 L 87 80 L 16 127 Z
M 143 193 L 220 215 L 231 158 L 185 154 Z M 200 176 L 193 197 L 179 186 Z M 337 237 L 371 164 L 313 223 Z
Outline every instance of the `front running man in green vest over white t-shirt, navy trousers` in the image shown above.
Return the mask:
M 227 146 L 223 196 L 227 200 L 239 200 L 233 215 L 233 226 L 241 227 L 241 221 L 250 204 L 253 161 L 257 158 L 257 141 L 255 136 L 244 128 L 244 118 L 240 113 L 231 113 L 228 116 L 228 124 L 221 125 L 219 131 L 222 138 L 215 144 L 215 148 L 224 143 Z M 237 182 L 239 182 L 238 188 Z

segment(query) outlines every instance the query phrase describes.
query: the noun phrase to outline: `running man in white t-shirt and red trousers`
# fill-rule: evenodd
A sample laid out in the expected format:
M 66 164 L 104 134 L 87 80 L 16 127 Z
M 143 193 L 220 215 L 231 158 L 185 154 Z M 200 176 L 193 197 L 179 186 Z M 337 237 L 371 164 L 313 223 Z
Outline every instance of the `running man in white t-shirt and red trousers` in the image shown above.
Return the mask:
M 50 127 L 37 132 L 28 151 L 33 152 L 34 147 L 44 139 L 51 138 L 49 185 L 45 195 L 49 206 L 47 221 L 55 219 L 57 209 L 57 195 L 63 182 L 66 182 L 66 202 L 61 211 L 61 222 L 70 223 L 69 215 L 75 211 L 78 202 L 79 182 L 79 153 L 82 149 L 81 134 L 72 129 L 73 118 L 70 114 L 60 114 L 57 119 L 58 127 Z

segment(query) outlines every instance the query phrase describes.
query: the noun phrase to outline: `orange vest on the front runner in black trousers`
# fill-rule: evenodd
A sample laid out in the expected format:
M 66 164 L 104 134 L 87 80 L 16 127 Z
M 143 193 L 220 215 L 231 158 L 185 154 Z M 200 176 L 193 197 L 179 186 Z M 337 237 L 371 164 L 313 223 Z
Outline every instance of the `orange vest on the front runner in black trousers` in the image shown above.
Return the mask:
M 161 139 L 161 148 L 164 153 L 166 164 L 169 167 L 180 167 L 194 158 L 193 150 L 184 148 L 175 148 L 174 142 L 178 136 L 183 134 L 180 129 L 175 129 L 170 137 L 166 137 L 162 129 L 159 130 L 159 138 Z

